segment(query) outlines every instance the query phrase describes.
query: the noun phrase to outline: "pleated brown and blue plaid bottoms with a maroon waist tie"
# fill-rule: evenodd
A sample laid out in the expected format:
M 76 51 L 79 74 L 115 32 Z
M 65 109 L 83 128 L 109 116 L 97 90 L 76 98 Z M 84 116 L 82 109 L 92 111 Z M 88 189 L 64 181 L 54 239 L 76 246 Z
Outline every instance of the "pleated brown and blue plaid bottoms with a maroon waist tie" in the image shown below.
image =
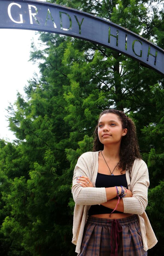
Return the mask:
M 78 256 L 146 256 L 136 215 L 123 219 L 89 217 Z

